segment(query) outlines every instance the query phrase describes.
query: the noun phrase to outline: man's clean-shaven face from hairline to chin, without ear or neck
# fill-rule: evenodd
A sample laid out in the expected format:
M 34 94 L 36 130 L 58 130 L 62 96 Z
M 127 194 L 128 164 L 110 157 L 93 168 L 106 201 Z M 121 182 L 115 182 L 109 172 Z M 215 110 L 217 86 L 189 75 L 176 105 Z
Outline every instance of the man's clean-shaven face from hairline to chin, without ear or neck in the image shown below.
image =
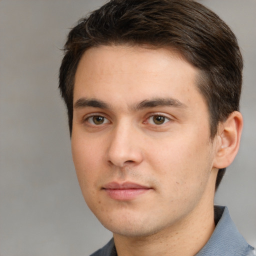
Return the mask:
M 99 46 L 82 56 L 73 162 L 87 205 L 114 234 L 171 229 L 213 204 L 216 143 L 197 74 L 164 48 Z

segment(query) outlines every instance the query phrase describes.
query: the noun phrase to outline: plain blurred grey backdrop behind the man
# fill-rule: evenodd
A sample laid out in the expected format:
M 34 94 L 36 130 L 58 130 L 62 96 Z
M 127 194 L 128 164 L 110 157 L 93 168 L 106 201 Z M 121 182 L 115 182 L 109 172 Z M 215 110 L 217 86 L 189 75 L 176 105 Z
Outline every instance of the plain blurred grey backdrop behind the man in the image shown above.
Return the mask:
M 57 90 L 65 35 L 102 0 L 0 0 L 0 255 L 88 255 L 111 234 L 85 205 Z M 256 1 L 202 0 L 244 55 L 241 147 L 216 194 L 256 245 Z

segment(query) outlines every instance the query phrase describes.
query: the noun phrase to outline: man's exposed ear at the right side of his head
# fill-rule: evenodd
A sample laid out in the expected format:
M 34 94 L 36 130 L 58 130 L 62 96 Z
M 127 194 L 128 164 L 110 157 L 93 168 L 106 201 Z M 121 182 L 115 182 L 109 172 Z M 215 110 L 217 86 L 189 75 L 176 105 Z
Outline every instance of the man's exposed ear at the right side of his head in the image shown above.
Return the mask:
M 233 161 L 239 149 L 242 123 L 242 115 L 238 111 L 233 111 L 219 123 L 213 167 L 225 168 Z

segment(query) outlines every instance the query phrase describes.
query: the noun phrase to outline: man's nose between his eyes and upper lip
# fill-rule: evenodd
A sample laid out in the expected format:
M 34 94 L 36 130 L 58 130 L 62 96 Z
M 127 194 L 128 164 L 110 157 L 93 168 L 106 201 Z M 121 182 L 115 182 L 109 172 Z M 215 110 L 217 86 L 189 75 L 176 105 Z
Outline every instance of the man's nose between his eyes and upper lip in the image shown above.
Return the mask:
M 119 123 L 111 131 L 107 160 L 118 167 L 139 164 L 143 159 L 138 129 L 128 123 Z

